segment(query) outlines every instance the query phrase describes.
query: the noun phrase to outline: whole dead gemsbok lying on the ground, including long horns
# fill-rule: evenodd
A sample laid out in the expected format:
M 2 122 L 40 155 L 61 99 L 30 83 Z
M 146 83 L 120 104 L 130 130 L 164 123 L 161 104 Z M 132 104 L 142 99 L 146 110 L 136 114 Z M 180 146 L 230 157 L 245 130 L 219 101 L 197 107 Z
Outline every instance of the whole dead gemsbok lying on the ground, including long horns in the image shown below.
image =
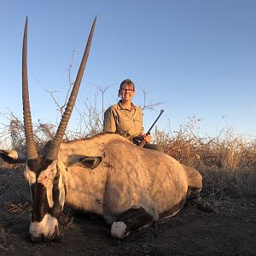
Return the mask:
M 32 241 L 59 236 L 58 218 L 67 202 L 94 212 L 111 225 L 113 237 L 124 238 L 130 230 L 148 226 L 176 214 L 190 195 L 202 188 L 202 177 L 189 166 L 154 150 L 138 148 L 113 133 L 68 143 L 62 137 L 71 116 L 89 55 L 96 19 L 90 30 L 73 91 L 54 139 L 38 153 L 32 131 L 28 96 L 26 41 L 22 53 L 22 98 L 26 154 L 0 150 L 3 160 L 26 162 L 24 176 L 32 195 Z

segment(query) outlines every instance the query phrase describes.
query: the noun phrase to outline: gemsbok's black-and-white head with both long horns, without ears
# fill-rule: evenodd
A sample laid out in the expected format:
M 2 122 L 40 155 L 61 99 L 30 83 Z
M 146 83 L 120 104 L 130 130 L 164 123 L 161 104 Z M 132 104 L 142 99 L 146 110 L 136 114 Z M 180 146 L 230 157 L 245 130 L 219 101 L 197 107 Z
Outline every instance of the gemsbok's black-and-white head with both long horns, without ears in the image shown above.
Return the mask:
M 22 49 L 22 100 L 23 116 L 26 133 L 26 170 L 25 177 L 30 184 L 32 194 L 32 222 L 29 232 L 32 240 L 50 240 L 59 235 L 58 217 L 65 202 L 65 188 L 60 183 L 60 170 L 57 165 L 58 152 L 62 138 L 67 128 L 68 120 L 73 111 L 84 68 L 90 52 L 96 18 L 91 26 L 90 35 L 84 49 L 84 56 L 79 67 L 79 73 L 73 85 L 72 93 L 67 102 L 67 108 L 61 118 L 55 137 L 49 144 L 44 156 L 38 155 L 37 146 L 32 131 L 32 117 L 28 94 L 27 79 L 27 18 L 24 30 Z M 50 183 L 50 184 L 49 184 Z

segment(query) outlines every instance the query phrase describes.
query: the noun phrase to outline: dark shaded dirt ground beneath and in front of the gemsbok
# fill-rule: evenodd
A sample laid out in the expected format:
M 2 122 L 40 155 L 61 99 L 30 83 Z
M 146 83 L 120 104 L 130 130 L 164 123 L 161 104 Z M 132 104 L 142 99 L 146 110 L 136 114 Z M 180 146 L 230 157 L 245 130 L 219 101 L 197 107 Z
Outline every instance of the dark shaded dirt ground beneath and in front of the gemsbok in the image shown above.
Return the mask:
M 256 202 L 214 201 L 218 212 L 195 205 L 114 240 L 100 218 L 65 207 L 58 241 L 29 240 L 30 195 L 22 172 L 0 168 L 0 255 L 256 255 Z

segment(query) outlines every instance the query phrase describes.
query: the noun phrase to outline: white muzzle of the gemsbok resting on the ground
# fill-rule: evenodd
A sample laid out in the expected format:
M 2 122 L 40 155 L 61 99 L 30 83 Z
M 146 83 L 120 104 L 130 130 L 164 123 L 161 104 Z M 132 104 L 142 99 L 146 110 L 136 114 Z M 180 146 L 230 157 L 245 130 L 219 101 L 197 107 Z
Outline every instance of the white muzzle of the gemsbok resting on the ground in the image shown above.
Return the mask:
M 30 224 L 29 233 L 32 239 L 36 239 L 42 235 L 44 238 L 50 239 L 55 233 L 55 226 L 58 227 L 58 220 L 47 213 L 41 222 L 34 221 Z

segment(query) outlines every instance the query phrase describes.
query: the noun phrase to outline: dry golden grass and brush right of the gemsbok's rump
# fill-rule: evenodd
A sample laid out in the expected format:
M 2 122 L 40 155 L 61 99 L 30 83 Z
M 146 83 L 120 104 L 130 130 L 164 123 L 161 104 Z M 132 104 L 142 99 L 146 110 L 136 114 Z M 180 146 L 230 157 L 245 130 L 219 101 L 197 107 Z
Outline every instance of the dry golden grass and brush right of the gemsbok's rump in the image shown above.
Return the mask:
M 181 163 L 194 166 L 204 177 L 204 194 L 212 199 L 253 198 L 256 195 L 256 142 L 232 129 L 217 137 L 196 135 L 200 119 L 189 119 L 174 133 L 155 131 L 156 143 Z

